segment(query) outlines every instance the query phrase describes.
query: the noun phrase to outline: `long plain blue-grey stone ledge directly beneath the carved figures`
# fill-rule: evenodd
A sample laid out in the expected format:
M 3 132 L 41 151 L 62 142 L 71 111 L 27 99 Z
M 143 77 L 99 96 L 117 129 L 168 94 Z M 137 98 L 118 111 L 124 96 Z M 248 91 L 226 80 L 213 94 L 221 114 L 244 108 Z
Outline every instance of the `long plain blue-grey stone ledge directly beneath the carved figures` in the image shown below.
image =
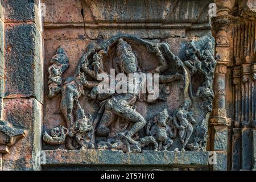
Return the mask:
M 208 166 L 209 151 L 143 151 L 124 154 L 112 150 L 44 150 L 42 165 L 154 165 Z

